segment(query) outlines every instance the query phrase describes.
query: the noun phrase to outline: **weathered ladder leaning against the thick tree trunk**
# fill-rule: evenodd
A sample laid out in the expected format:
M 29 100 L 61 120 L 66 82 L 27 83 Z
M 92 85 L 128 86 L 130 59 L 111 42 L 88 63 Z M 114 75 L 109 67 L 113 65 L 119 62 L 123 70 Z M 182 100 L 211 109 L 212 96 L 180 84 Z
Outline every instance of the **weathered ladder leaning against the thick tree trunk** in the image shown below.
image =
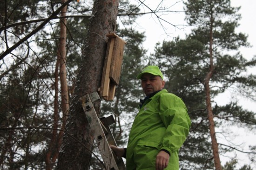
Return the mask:
M 101 100 L 97 92 L 86 94 L 80 98 L 84 113 L 94 133 L 94 140 L 98 144 L 99 151 L 107 170 L 126 170 L 121 157 L 117 157 L 111 150 L 109 144 L 115 145 L 116 142 L 109 125 L 115 123 L 113 116 L 99 119 L 94 109 L 93 103 Z

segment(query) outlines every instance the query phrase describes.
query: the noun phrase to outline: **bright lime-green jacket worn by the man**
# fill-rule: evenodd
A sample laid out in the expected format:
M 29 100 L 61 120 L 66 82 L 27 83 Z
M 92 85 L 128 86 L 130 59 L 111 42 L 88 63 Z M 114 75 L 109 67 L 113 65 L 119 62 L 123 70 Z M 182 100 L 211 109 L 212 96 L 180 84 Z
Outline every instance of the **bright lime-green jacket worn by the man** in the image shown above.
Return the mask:
M 127 146 L 127 170 L 155 170 L 156 155 L 170 153 L 165 170 L 179 170 L 178 150 L 191 125 L 187 108 L 175 94 L 161 90 L 147 99 L 133 122 Z

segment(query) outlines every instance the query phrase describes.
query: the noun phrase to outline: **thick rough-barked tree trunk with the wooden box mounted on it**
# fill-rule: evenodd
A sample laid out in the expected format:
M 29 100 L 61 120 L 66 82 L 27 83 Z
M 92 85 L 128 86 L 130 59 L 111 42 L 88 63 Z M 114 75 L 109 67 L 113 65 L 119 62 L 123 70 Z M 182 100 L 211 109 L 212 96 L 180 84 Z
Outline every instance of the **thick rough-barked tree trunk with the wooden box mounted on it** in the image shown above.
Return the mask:
M 93 134 L 85 117 L 79 98 L 98 91 L 104 65 L 107 40 L 106 34 L 115 32 L 119 0 L 95 0 L 88 27 L 87 39 L 83 48 L 79 74 L 69 110 L 67 125 L 58 159 L 59 170 L 88 170 L 93 147 Z M 94 104 L 100 113 L 98 101 Z M 72 135 L 74 140 L 69 135 Z M 86 147 L 85 147 L 86 146 Z

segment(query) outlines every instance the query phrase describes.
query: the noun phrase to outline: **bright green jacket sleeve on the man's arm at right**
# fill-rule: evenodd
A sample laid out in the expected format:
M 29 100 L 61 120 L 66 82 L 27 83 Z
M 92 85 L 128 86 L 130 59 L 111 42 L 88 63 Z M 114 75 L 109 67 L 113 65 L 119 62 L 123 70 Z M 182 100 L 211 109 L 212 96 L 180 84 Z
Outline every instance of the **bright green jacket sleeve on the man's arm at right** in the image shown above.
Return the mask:
M 181 98 L 174 94 L 164 94 L 159 100 L 159 114 L 167 128 L 160 149 L 172 153 L 178 151 L 186 140 L 191 121 Z

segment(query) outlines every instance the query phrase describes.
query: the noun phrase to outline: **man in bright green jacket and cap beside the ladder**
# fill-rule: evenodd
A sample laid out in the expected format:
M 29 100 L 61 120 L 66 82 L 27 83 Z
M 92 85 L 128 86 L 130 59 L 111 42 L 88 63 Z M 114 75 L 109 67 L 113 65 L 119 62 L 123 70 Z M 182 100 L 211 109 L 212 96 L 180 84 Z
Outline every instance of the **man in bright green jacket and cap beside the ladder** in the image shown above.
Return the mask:
M 148 66 L 137 76 L 146 94 L 133 122 L 127 148 L 110 147 L 126 157 L 127 170 L 179 170 L 178 150 L 191 125 L 182 99 L 163 89 L 158 66 Z

